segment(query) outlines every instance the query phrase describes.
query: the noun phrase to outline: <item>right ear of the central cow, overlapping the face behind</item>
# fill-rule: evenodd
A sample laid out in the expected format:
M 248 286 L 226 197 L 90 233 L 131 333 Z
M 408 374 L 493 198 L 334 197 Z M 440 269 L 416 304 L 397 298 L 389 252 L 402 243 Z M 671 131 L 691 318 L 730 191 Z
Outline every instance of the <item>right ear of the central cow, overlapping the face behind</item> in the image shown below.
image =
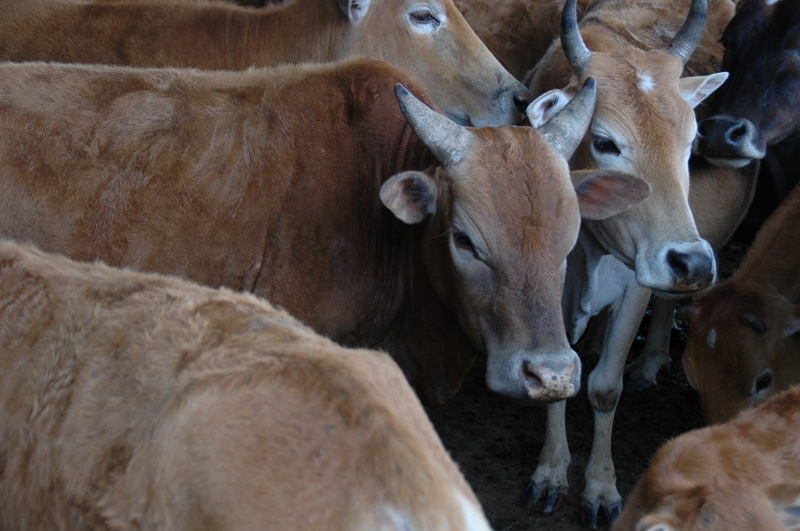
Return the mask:
M 583 219 L 604 219 L 641 203 L 650 185 L 629 173 L 614 170 L 570 172 Z

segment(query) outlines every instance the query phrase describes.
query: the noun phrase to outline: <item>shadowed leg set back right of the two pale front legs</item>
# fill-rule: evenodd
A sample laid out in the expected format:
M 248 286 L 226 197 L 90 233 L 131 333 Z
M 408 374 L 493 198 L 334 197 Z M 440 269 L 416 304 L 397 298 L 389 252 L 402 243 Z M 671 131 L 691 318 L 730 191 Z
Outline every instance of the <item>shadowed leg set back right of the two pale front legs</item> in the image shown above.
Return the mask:
M 669 337 L 677 301 L 653 296 L 653 315 L 644 349 L 639 357 L 625 367 L 625 391 L 637 392 L 655 387 L 658 372 L 669 366 Z

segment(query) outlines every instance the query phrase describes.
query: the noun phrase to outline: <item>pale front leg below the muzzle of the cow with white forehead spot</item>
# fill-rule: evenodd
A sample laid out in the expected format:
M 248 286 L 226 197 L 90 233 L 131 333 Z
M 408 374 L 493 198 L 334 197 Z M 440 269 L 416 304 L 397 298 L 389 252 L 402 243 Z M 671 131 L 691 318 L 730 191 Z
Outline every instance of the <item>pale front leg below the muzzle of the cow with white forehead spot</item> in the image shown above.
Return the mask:
M 631 274 L 622 297 L 612 305 L 603 354 L 589 375 L 589 401 L 594 409 L 594 439 L 586 465 L 586 487 L 581 496 L 583 522 L 597 528 L 598 513 L 609 520 L 622 512 L 622 496 L 617 491 L 617 477 L 611 458 L 611 432 L 614 413 L 622 393 L 622 376 L 641 316 L 647 309 L 651 291 L 636 283 Z

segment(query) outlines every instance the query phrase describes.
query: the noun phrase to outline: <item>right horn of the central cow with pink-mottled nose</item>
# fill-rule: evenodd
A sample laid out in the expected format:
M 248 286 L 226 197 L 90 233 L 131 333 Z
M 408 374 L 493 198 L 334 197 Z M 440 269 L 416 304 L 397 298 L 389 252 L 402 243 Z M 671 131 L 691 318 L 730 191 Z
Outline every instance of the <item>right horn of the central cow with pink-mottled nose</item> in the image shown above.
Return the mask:
M 592 121 L 596 95 L 594 78 L 587 77 L 575 97 L 538 129 L 547 143 L 566 160 L 575 152 Z

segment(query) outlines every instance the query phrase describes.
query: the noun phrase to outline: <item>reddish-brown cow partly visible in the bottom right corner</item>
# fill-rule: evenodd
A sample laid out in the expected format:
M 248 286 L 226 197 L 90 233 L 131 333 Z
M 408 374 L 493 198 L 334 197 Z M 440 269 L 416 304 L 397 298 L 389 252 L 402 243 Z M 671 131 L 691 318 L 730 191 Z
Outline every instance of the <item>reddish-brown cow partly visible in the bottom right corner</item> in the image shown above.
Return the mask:
M 614 531 L 800 529 L 800 387 L 664 444 Z

